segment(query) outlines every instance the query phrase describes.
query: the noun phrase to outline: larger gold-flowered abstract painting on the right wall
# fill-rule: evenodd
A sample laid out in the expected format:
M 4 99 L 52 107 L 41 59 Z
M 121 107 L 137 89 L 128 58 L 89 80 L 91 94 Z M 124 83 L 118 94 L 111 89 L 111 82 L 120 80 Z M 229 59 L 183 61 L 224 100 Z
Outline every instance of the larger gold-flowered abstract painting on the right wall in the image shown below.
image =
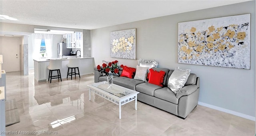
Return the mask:
M 178 63 L 250 69 L 250 14 L 178 23 Z

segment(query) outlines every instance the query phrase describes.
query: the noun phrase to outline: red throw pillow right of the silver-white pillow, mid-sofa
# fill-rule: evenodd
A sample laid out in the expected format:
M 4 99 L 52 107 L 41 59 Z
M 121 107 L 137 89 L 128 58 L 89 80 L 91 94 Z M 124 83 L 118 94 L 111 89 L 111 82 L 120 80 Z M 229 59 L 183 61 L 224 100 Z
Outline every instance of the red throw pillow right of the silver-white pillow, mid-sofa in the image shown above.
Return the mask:
M 163 82 L 164 82 L 164 75 L 165 72 L 164 71 L 156 71 L 153 70 L 152 68 L 149 69 L 149 79 L 148 82 L 150 84 L 155 84 L 158 86 L 163 86 Z

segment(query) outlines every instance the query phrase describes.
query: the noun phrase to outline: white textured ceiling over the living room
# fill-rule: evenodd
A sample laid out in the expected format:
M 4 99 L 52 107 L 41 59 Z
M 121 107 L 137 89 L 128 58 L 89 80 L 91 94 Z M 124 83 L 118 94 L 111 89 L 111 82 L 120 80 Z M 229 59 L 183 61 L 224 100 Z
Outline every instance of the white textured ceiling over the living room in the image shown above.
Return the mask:
M 0 22 L 96 29 L 250 0 L 0 0 Z

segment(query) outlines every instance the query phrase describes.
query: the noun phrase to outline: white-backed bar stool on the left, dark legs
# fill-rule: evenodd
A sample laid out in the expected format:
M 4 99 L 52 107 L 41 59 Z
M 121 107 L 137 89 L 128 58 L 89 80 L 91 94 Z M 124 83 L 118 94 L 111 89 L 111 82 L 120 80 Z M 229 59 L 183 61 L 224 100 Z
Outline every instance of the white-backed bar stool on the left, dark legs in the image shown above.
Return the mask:
M 50 70 L 49 77 L 48 77 L 48 81 L 51 78 L 50 83 L 52 83 L 52 79 L 55 79 L 55 78 L 58 78 L 58 80 L 62 82 L 61 75 L 60 75 L 61 65 L 62 65 L 62 60 L 61 59 L 59 59 L 59 60 L 50 60 L 50 65 L 47 66 L 47 68 Z M 53 71 L 57 71 L 58 76 L 52 76 Z

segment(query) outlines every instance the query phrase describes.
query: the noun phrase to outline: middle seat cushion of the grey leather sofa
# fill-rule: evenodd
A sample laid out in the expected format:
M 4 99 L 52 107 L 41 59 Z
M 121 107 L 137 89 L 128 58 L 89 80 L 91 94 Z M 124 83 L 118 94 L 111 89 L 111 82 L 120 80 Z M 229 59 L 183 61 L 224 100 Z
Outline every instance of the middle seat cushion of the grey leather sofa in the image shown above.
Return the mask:
M 159 88 L 162 88 L 162 87 L 146 82 L 146 83 L 138 84 L 136 86 L 136 91 L 142 92 L 144 94 L 148 94 L 150 96 L 154 96 L 154 91 Z

